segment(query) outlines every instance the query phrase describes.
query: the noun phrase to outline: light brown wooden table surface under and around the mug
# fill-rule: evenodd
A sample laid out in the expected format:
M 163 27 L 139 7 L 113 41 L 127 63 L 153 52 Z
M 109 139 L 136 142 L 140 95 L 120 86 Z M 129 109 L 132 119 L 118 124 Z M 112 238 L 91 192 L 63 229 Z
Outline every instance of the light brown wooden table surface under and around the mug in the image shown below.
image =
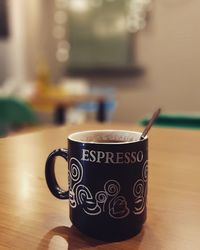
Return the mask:
M 50 151 L 85 129 L 141 129 L 131 124 L 68 125 L 0 140 L 0 249 L 199 250 L 200 131 L 152 128 L 149 133 L 148 218 L 142 232 L 106 243 L 78 232 L 68 201 L 54 198 L 44 179 Z M 67 168 L 57 159 L 58 181 Z

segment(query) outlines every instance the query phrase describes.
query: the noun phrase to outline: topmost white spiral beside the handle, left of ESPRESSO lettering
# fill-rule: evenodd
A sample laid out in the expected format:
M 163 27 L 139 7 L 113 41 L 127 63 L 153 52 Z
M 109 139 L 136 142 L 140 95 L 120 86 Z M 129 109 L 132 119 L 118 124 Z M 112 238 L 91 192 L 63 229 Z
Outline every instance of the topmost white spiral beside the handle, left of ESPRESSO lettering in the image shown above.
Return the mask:
M 71 180 L 75 182 L 81 181 L 83 177 L 83 168 L 81 163 L 76 158 L 72 157 L 69 162 L 69 168 L 69 175 Z

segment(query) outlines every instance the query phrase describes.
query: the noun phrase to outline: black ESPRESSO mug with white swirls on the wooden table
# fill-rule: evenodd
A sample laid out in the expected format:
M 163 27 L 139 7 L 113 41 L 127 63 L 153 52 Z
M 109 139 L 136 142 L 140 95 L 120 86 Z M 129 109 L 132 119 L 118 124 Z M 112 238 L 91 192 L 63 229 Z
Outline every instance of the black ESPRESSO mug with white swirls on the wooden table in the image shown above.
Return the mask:
M 59 199 L 69 199 L 70 220 L 81 232 L 104 241 L 138 234 L 146 220 L 148 138 L 125 130 L 91 130 L 68 137 L 68 149 L 46 161 L 46 182 Z M 60 188 L 54 164 L 68 162 L 69 190 Z

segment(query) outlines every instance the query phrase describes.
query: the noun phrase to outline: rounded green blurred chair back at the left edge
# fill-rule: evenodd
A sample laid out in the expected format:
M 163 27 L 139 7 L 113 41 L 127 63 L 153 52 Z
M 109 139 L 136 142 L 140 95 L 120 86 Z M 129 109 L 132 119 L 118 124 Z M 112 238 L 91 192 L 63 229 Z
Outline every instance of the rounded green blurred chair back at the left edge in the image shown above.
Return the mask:
M 37 123 L 37 116 L 28 104 L 13 97 L 0 97 L 0 137 Z

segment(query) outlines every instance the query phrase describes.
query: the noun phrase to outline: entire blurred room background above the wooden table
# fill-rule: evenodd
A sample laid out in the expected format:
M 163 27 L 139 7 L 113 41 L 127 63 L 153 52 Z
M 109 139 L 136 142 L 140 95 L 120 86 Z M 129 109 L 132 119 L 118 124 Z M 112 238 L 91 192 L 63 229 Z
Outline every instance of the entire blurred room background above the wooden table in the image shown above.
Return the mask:
M 197 114 L 199 8 L 198 0 L 0 0 L 0 133 L 134 123 L 157 107 Z

